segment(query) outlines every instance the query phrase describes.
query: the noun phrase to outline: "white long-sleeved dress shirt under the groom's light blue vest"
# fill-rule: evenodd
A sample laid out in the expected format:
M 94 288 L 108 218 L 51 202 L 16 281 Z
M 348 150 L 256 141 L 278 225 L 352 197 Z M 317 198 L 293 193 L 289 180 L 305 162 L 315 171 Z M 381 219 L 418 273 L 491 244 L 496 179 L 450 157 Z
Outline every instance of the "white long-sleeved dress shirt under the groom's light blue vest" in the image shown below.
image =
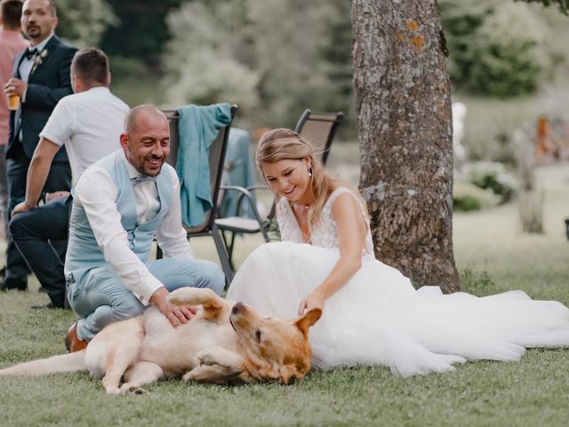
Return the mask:
M 134 167 L 124 158 L 129 177 L 137 176 Z M 156 241 L 164 252 L 164 258 L 193 259 L 186 230 L 181 225 L 180 182 L 172 166 L 164 164 L 172 175 L 172 205 L 156 230 Z M 163 173 L 165 173 L 164 171 Z M 93 165 L 85 170 L 77 181 L 74 201 L 84 207 L 93 234 L 105 260 L 113 267 L 124 286 L 145 305 L 150 296 L 161 286 L 144 262 L 129 247 L 126 231 L 121 224 L 121 214 L 116 207 L 115 182 L 104 169 Z M 156 216 L 160 209 L 156 182 L 145 181 L 134 186 L 138 222 Z

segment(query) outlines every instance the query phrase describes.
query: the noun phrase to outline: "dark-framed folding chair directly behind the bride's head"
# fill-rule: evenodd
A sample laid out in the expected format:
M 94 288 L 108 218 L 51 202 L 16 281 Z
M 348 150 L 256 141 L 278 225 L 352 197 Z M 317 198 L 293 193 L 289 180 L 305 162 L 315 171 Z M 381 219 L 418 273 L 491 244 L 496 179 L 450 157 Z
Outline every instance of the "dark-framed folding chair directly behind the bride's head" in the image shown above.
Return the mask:
M 323 165 L 326 165 L 334 135 L 343 118 L 344 113 L 342 112 L 325 113 L 305 109 L 294 128 L 296 133 L 299 133 L 312 143 L 315 153 L 321 153 Z M 222 186 L 221 188 L 224 190 L 239 191 L 241 196 L 237 202 L 237 209 L 239 209 L 239 206 L 246 200 L 250 206 L 250 212 L 253 215 L 253 218 L 245 218 L 238 216 L 239 213 L 236 212 L 235 216 L 215 220 L 217 227 L 221 231 L 223 243 L 227 249 L 229 264 L 231 268 L 235 270 L 233 264 L 233 250 L 235 247 L 236 234 L 261 233 L 265 242 L 268 242 L 268 230 L 276 214 L 276 201 L 273 202 L 267 217 L 261 218 L 251 192 L 257 189 L 267 189 L 266 186 L 254 185 L 247 189 L 236 186 Z M 226 236 L 226 232 L 230 233 L 230 238 Z

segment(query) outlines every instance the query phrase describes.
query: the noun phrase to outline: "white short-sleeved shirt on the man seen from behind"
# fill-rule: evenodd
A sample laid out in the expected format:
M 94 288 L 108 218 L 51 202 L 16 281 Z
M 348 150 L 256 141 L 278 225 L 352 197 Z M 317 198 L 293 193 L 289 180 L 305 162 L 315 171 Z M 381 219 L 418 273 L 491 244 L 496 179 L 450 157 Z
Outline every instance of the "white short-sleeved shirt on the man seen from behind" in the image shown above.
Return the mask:
M 84 170 L 120 148 L 129 108 L 107 86 L 61 98 L 39 134 L 68 151 L 73 184 Z

